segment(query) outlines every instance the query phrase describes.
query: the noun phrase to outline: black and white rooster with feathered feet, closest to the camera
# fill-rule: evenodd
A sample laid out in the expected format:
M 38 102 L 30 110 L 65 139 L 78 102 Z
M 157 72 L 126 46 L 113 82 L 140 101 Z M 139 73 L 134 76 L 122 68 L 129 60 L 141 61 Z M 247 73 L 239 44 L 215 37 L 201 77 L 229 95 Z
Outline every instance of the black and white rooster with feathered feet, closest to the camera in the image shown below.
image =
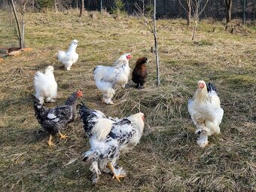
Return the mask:
M 120 181 L 126 176 L 116 161 L 120 153 L 130 151 L 139 143 L 144 129 L 144 114 L 137 113 L 122 119 L 105 117 L 101 111 L 80 105 L 79 114 L 84 131 L 90 139 L 90 149 L 84 153 L 84 161 L 91 163 L 93 183 L 99 181 L 102 172 L 112 172 L 113 178 Z

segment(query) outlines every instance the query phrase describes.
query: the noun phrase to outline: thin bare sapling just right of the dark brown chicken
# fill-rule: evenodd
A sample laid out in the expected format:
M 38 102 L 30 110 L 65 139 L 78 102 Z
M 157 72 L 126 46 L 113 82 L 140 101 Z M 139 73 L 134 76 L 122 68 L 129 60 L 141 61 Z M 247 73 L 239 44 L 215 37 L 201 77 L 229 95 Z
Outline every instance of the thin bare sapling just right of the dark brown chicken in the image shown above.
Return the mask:
M 136 8 L 139 10 L 140 13 L 142 13 L 143 8 L 140 8 L 138 4 L 136 4 Z M 144 14 L 140 17 L 139 14 L 137 14 L 138 17 L 140 17 L 143 20 L 143 23 L 145 24 L 145 27 L 154 35 L 154 53 L 156 56 L 156 64 L 157 64 L 157 86 L 160 84 L 160 64 L 159 64 L 159 56 L 158 56 L 158 48 L 157 48 L 157 2 L 154 0 L 154 12 L 153 12 L 153 20 L 148 20 Z

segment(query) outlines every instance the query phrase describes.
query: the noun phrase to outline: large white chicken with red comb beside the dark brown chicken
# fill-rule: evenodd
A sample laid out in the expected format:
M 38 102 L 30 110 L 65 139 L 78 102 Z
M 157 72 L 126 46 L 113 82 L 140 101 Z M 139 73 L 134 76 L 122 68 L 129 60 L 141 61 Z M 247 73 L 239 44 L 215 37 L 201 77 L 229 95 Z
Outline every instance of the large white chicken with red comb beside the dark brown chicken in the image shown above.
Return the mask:
M 111 99 L 117 87 L 125 87 L 127 84 L 131 58 L 133 56 L 130 53 L 125 53 L 114 62 L 113 66 L 96 66 L 93 70 L 96 87 L 103 93 L 102 102 L 113 104 Z

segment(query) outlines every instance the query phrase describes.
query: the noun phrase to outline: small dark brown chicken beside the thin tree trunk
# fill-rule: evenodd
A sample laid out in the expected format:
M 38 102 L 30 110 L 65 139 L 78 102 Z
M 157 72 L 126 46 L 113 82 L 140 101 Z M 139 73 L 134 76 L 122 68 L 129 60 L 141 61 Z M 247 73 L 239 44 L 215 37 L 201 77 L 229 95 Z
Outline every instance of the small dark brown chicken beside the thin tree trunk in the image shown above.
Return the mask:
M 143 89 L 147 81 L 148 72 L 146 69 L 147 57 L 143 56 L 136 61 L 136 66 L 133 69 L 133 82 L 136 83 L 137 89 Z

